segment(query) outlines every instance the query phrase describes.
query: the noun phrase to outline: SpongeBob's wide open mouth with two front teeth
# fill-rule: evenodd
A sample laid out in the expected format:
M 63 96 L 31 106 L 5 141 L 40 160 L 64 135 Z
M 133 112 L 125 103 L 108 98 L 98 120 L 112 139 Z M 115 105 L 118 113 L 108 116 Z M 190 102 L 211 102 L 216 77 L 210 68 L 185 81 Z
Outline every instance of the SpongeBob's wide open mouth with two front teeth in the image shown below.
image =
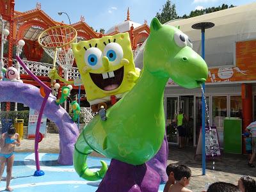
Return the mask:
M 124 79 L 124 67 L 104 74 L 90 73 L 90 77 L 96 86 L 104 91 L 115 90 L 122 84 Z

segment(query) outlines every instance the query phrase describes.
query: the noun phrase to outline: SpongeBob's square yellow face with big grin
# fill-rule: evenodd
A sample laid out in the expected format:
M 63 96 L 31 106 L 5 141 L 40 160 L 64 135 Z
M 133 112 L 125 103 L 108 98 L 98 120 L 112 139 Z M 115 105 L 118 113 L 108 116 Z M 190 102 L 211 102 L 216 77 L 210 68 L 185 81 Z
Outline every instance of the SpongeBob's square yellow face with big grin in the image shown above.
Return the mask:
M 128 33 L 72 44 L 89 101 L 131 90 L 127 73 L 135 72 Z

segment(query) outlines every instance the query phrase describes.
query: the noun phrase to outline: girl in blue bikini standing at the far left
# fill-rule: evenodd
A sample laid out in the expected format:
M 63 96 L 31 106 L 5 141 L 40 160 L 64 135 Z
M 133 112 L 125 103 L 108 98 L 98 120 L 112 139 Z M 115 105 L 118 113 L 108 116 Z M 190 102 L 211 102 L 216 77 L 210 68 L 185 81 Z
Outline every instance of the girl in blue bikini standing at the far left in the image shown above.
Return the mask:
M 0 138 L 0 179 L 4 172 L 5 163 L 7 163 L 6 191 L 13 191 L 13 189 L 10 188 L 10 180 L 12 179 L 15 146 L 20 146 L 19 134 L 14 127 L 10 127 Z

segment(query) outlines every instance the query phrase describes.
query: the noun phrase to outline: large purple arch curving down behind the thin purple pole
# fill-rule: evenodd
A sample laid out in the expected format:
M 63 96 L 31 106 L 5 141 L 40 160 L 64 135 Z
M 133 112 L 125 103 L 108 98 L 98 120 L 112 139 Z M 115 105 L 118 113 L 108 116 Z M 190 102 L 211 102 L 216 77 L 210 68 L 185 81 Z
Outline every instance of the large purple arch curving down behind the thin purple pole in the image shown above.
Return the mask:
M 39 111 L 43 100 L 39 88 L 36 86 L 16 81 L 0 81 L 1 102 L 19 102 Z M 47 99 L 44 115 L 59 128 L 60 155 L 58 163 L 73 164 L 74 145 L 79 136 L 77 125 L 72 121 L 65 109 L 56 105 L 52 95 Z

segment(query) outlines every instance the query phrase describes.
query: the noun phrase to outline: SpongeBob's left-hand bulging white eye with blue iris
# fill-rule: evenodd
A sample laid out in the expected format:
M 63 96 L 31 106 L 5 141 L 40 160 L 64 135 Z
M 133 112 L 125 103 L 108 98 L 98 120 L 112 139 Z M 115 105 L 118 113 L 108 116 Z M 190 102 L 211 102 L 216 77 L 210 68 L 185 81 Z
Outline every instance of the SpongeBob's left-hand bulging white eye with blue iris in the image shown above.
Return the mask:
M 92 69 L 102 67 L 102 52 L 97 47 L 91 47 L 84 54 L 84 61 Z

